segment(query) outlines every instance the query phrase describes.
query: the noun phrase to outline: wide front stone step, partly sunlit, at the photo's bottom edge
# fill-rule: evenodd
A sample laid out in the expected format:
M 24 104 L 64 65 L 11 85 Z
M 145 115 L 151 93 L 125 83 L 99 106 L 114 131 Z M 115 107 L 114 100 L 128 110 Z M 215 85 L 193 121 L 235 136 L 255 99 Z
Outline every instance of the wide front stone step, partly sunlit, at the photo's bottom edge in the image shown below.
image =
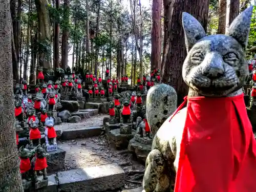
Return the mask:
M 96 192 L 124 186 L 125 173 L 116 163 L 58 173 L 59 191 Z

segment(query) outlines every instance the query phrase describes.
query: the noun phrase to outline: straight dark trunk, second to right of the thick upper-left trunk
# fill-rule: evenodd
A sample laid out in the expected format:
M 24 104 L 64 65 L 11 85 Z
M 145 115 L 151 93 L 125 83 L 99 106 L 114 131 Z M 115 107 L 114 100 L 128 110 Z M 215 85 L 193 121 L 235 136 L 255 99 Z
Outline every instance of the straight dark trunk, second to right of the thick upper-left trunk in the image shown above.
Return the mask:
M 61 44 L 61 68 L 68 68 L 68 54 L 69 54 L 69 0 L 64 1 L 64 28 L 62 31 L 62 44 Z

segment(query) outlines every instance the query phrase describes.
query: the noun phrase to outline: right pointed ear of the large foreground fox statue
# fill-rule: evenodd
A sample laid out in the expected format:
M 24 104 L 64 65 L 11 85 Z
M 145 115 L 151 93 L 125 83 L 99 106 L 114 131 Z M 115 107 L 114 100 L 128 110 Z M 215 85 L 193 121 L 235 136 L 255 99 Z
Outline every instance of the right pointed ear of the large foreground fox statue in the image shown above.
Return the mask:
M 226 35 L 236 39 L 244 48 L 248 42 L 252 10 L 253 7 L 251 6 L 239 14 L 226 31 Z

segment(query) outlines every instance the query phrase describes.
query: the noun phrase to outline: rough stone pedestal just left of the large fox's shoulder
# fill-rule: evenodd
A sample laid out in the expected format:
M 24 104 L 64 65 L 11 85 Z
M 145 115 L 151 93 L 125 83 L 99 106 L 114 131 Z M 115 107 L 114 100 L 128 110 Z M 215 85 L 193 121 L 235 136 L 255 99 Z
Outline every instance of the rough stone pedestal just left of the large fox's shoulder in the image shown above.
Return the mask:
M 151 152 L 151 146 L 152 139 L 144 139 L 136 134 L 135 137 L 130 140 L 128 150 L 134 152 L 137 159 L 142 163 L 145 163 L 147 155 Z

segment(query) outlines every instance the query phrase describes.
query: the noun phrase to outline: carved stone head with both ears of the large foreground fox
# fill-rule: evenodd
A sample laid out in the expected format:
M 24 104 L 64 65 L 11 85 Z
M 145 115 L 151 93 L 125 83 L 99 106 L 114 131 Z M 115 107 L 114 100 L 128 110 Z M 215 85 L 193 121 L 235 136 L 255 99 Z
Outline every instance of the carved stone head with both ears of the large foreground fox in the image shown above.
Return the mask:
M 182 77 L 203 96 L 226 96 L 239 90 L 248 78 L 245 58 L 252 7 L 233 20 L 225 35 L 207 36 L 196 18 L 183 13 L 187 57 Z

